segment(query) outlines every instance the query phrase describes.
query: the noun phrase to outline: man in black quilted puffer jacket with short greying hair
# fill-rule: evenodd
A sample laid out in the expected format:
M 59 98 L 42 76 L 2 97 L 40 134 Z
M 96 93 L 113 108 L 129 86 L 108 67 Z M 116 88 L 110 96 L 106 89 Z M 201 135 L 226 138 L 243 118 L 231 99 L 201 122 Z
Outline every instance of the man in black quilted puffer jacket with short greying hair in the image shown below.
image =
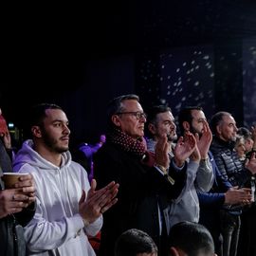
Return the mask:
M 213 140 L 210 145 L 217 167 L 222 176 L 232 186 L 243 187 L 251 174 L 256 173 L 256 158 L 253 153 L 246 164 L 239 160 L 234 151 L 237 127 L 235 119 L 229 112 L 218 112 L 210 119 Z M 247 200 L 245 201 L 247 203 Z M 223 255 L 235 256 L 241 226 L 240 209 L 221 210 L 221 231 L 223 235 Z

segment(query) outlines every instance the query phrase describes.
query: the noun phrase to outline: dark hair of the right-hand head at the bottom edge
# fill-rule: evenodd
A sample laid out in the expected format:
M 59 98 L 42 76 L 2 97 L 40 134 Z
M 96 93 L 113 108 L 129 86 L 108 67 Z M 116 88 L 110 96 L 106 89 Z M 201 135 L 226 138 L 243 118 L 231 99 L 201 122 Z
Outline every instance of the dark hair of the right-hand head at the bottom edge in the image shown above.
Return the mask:
M 201 253 L 214 253 L 214 243 L 210 231 L 203 225 L 183 221 L 170 230 L 169 247 L 182 249 L 190 256 Z

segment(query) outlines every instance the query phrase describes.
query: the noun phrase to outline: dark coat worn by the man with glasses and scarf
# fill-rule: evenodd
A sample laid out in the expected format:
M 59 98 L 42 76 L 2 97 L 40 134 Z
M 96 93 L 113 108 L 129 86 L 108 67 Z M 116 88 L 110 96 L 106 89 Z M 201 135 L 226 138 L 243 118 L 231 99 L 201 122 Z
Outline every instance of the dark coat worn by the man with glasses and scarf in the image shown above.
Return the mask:
M 119 183 L 119 201 L 104 213 L 100 255 L 114 255 L 115 241 L 124 230 L 132 228 L 146 231 L 158 246 L 158 210 L 162 212 L 182 191 L 184 171 L 173 175 L 173 186 L 155 167 L 144 165 L 137 156 L 106 142 L 95 155 L 94 174 L 98 188 L 113 180 Z

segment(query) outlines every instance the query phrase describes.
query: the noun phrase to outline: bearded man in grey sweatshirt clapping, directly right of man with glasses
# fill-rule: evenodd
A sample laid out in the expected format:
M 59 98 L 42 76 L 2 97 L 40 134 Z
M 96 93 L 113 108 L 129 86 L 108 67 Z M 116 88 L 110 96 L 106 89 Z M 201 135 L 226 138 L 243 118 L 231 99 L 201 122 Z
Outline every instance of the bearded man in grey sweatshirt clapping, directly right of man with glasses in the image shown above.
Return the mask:
M 151 151 L 155 151 L 155 143 L 159 137 L 167 135 L 170 145 L 169 156 L 170 158 L 177 156 L 173 151 L 176 126 L 169 107 L 159 105 L 149 111 L 148 130 L 152 137 L 148 140 L 148 147 Z M 183 137 L 185 141 L 187 137 L 193 137 L 195 140 L 189 131 L 184 133 Z M 198 222 L 199 220 L 199 202 L 196 189 L 208 192 L 213 181 L 212 169 L 206 159 L 210 141 L 211 133 L 208 128 L 204 136 L 200 140 L 198 139 L 194 151 L 190 155 L 183 155 L 184 160 L 188 161 L 187 180 L 183 191 L 169 206 L 169 229 L 180 221 Z M 200 160 L 202 158 L 204 160 Z

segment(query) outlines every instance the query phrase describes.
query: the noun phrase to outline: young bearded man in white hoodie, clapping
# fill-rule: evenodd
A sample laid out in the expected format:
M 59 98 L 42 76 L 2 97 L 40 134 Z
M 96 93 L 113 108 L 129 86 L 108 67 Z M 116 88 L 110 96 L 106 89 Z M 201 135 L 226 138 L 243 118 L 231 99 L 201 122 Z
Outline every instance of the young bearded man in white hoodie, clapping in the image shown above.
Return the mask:
M 39 104 L 29 115 L 32 140 L 17 153 L 14 170 L 34 176 L 37 209 L 25 228 L 28 255 L 94 256 L 87 235 L 102 226 L 102 213 L 117 202 L 119 184 L 96 191 L 68 151 L 70 130 L 64 111 Z

